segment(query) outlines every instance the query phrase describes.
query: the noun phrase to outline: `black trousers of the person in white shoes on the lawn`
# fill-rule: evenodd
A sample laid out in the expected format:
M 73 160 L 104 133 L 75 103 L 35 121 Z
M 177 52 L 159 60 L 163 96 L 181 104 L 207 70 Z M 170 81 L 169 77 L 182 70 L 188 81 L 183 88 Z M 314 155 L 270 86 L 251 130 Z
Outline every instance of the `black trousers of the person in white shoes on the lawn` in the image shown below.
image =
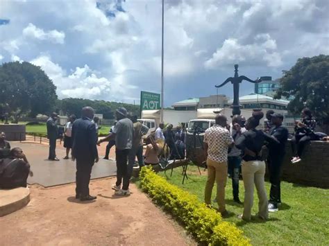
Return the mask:
M 272 204 L 278 204 L 278 202 L 281 202 L 280 173 L 284 157 L 284 152 L 278 152 L 276 155 L 269 155 L 267 158 L 267 164 L 269 165 L 269 182 L 271 182 L 269 202 Z

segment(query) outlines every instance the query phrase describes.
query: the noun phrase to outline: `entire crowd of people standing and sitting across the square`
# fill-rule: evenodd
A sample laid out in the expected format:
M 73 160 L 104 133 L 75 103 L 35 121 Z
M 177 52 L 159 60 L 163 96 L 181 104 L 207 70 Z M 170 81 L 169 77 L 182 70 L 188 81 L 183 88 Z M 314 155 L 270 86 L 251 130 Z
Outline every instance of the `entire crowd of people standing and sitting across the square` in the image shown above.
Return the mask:
M 64 159 L 76 161 L 76 199 L 94 200 L 90 195 L 89 183 L 92 166 L 99 161 L 97 145 L 107 142 L 106 155 L 109 158 L 110 148 L 115 146 L 117 164 L 117 181 L 112 184 L 115 195 L 130 195 L 129 182 L 135 166 L 160 164 L 160 158 L 185 158 L 186 131 L 182 126 L 173 130 L 174 126 L 160 123 L 159 127 L 145 139 L 144 152 L 143 136 L 149 128 L 137 121 L 137 116 L 129 116 L 124 107 L 115 112 L 117 121 L 110 129 L 108 136 L 99 139 L 99 118 L 94 117 L 92 107 L 82 109 L 81 118 L 69 116 L 64 129 Z M 264 121 L 264 129 L 258 130 L 262 112 L 254 112 L 253 116 L 244 118 L 240 115 L 232 117 L 228 125 L 226 116 L 217 114 L 215 123 L 205 130 L 204 153 L 208 168 L 208 179 L 205 184 L 205 203 L 211 206 L 211 195 L 214 182 L 217 183 L 217 203 L 222 216 L 227 216 L 225 203 L 226 179 L 232 179 L 233 200 L 244 204 L 244 211 L 239 218 L 251 219 L 253 207 L 254 186 L 258 193 L 258 217 L 267 220 L 269 211 L 278 211 L 281 204 L 280 170 L 285 158 L 285 146 L 288 130 L 282 125 L 282 114 L 269 110 Z M 301 161 L 305 143 L 317 139 L 314 132 L 315 120 L 310 109 L 303 109 L 301 121 L 296 121 L 295 134 L 292 138 L 294 156 L 292 163 Z M 58 161 L 56 157 L 56 139 L 59 138 L 57 125 L 58 115 L 51 114 L 47 120 L 47 137 L 49 139 L 49 157 L 51 161 Z M 165 130 L 164 130 L 165 129 Z M 5 140 L 6 134 L 0 135 L 0 188 L 26 187 L 28 174 L 33 175 L 28 160 L 22 149 L 10 150 L 10 143 Z M 265 148 L 266 146 L 266 148 Z M 267 155 L 268 154 L 268 155 Z M 271 188 L 269 199 L 264 186 L 266 164 L 269 170 Z M 242 174 L 244 183 L 244 202 L 239 199 L 239 179 Z

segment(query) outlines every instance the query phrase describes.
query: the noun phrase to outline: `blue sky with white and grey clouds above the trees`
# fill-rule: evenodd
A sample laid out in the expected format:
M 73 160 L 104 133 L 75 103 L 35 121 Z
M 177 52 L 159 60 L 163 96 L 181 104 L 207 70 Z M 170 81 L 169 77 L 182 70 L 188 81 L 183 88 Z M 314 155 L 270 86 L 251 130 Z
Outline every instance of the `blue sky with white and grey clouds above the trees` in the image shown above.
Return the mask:
M 216 94 L 235 63 L 280 78 L 298 58 L 328 55 L 328 12 L 328 0 L 165 0 L 165 105 Z M 60 98 L 138 103 L 141 90 L 160 93 L 161 0 L 0 0 L 0 62 L 23 60 Z

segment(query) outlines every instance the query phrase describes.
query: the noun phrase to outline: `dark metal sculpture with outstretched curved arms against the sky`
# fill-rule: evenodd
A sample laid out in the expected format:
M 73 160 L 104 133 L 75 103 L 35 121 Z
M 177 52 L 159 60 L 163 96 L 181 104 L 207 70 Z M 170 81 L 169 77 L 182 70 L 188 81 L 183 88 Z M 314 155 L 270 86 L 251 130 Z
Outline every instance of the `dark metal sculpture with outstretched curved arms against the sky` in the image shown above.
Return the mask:
M 231 82 L 233 84 L 233 111 L 232 114 L 241 114 L 241 110 L 240 110 L 240 103 L 239 103 L 239 83 L 242 82 L 242 80 L 247 80 L 249 82 L 252 83 L 259 83 L 262 82 L 262 80 L 260 78 L 256 79 L 256 80 L 251 80 L 250 78 L 247 78 L 246 76 L 239 76 L 239 74 L 237 73 L 237 68 L 239 67 L 238 64 L 234 65 L 235 67 L 235 73 L 234 73 L 234 78 L 230 77 L 227 78 L 221 85 L 215 85 L 214 87 L 219 88 L 222 87 L 223 85 L 226 85 L 228 82 Z

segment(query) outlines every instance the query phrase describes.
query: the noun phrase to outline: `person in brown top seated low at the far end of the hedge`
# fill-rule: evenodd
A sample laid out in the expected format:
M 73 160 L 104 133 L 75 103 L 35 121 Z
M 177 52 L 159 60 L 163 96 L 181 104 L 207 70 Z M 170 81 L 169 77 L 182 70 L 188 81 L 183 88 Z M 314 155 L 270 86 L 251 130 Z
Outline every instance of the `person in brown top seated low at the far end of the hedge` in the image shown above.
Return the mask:
M 153 136 L 150 135 L 146 139 L 146 151 L 144 154 L 144 163 L 145 165 L 156 165 L 159 164 L 159 155 L 165 145 L 163 139 L 156 139 L 154 141 Z

